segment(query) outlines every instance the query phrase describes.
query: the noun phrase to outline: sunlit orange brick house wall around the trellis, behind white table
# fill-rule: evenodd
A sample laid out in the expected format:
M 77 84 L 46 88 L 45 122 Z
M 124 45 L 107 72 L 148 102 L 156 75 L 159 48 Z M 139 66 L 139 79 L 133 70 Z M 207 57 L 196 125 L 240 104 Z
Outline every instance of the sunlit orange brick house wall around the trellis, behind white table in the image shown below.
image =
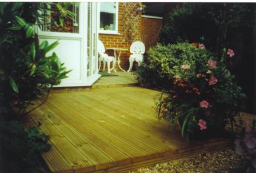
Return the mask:
M 134 2 L 129 2 L 129 3 L 133 3 L 135 5 Z M 99 39 L 103 42 L 105 48 L 107 47 L 114 47 L 114 48 L 127 48 L 128 51 L 122 51 L 121 54 L 121 67 L 125 70 L 127 70 L 129 68 L 129 56 L 130 56 L 130 43 L 128 42 L 122 42 L 123 39 L 125 39 L 127 37 L 127 33 L 125 33 L 123 31 L 122 25 L 123 25 L 123 17 L 124 14 L 124 7 L 123 7 L 123 2 L 119 2 L 118 3 L 118 33 L 119 35 L 114 35 L 114 34 L 99 34 Z M 141 23 L 142 22 L 142 18 L 141 18 L 141 11 L 138 11 L 137 13 L 138 15 L 138 22 Z M 141 31 L 141 27 L 138 28 L 138 34 L 137 34 L 137 38 L 138 40 L 141 41 L 141 35 L 142 35 L 142 31 Z M 107 51 L 108 55 L 113 55 L 113 51 L 108 50 Z

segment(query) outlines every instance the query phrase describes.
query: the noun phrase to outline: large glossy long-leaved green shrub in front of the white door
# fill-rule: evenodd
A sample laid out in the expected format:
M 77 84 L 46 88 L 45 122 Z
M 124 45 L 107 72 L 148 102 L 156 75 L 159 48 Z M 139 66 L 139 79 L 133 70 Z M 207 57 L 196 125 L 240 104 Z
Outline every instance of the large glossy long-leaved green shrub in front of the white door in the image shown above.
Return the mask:
M 66 68 L 55 53 L 58 42 L 39 44 L 34 24 L 43 18 L 47 3 L 0 3 L 0 70 L 3 99 L 19 109 L 41 98 L 66 78 Z M 27 14 L 28 9 L 31 11 Z

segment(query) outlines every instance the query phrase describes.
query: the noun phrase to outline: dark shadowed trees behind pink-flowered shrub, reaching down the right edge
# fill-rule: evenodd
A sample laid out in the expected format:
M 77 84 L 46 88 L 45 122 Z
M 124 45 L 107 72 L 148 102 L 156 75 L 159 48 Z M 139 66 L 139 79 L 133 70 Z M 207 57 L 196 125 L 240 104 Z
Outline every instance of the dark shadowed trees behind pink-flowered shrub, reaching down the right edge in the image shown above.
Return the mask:
M 182 3 L 165 19 L 162 41 L 203 42 L 217 56 L 223 47 L 236 52 L 229 71 L 248 96 L 247 112 L 255 112 L 253 28 L 254 6 L 250 3 Z

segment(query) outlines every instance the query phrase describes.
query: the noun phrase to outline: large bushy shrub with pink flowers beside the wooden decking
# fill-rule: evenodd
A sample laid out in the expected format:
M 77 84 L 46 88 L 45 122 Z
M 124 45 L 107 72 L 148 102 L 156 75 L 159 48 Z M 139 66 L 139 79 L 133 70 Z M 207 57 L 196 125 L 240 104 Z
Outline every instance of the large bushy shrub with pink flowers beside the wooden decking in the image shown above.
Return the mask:
M 169 88 L 157 103 L 159 118 L 174 125 L 179 122 L 182 135 L 205 139 L 223 134 L 245 100 L 226 65 L 234 51 L 223 49 L 222 57 L 215 57 L 203 44 L 178 43 L 166 46 Z M 161 52 L 157 52 L 156 56 Z M 161 60 L 159 60 L 161 61 Z M 164 67 L 166 64 L 163 64 Z

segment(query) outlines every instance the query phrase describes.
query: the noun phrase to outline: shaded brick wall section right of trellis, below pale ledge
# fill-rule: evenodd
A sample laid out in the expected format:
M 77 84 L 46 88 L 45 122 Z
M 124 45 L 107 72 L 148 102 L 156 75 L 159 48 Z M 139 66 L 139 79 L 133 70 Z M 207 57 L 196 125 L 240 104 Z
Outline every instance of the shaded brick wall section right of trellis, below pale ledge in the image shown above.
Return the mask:
M 145 44 L 146 50 L 158 43 L 161 26 L 162 19 L 142 17 L 142 42 Z

